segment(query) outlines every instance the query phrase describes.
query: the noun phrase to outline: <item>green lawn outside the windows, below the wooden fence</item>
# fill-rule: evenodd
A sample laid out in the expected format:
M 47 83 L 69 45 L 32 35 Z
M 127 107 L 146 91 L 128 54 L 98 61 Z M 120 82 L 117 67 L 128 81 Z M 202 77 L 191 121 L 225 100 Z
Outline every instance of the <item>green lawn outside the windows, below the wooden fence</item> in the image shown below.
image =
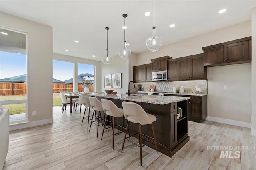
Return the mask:
M 53 104 L 52 106 L 62 106 L 60 99 L 60 94 L 53 94 Z M 26 95 L 20 96 L 0 96 L 0 100 L 19 100 L 26 99 Z M 10 115 L 25 113 L 25 104 L 5 104 L 3 105 L 4 109 L 9 109 Z

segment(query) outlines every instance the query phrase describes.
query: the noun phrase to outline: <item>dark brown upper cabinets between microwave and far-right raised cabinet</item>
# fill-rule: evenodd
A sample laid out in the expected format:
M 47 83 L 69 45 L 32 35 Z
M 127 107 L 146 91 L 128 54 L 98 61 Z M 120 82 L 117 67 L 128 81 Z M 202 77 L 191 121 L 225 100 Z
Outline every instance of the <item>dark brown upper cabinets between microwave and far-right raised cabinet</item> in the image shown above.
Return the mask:
M 180 57 L 169 61 L 168 80 L 206 80 L 203 54 Z

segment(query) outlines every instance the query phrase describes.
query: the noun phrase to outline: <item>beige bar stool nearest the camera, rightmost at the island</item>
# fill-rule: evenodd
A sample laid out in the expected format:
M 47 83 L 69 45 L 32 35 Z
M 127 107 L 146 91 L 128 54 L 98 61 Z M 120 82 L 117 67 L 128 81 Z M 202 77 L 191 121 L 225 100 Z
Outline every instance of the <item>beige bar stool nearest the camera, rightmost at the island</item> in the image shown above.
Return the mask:
M 140 166 L 142 167 L 142 147 L 144 147 L 148 143 L 154 141 L 155 147 L 156 147 L 156 153 L 158 153 L 157 146 L 156 146 L 155 129 L 154 129 L 154 125 L 153 125 L 153 122 L 156 121 L 156 116 L 146 113 L 140 105 L 138 105 L 134 102 L 122 102 L 122 105 L 123 105 L 123 109 L 124 109 L 124 117 L 125 117 L 125 119 L 128 120 L 126 131 L 125 131 L 125 136 L 124 136 L 124 142 L 126 140 L 126 134 L 127 134 L 127 129 L 129 128 L 129 123 L 132 122 L 132 123 L 139 124 L 139 143 L 140 143 L 140 145 L 137 145 L 136 143 L 133 143 L 132 141 L 130 141 L 130 142 L 133 143 L 134 145 L 140 147 Z M 153 131 L 154 138 L 141 133 L 141 125 L 148 125 L 148 124 L 152 125 L 152 131 Z M 151 139 L 148 143 L 144 144 L 143 146 L 142 146 L 142 138 L 141 138 L 142 135 Z M 130 137 L 130 135 L 129 135 L 129 137 Z M 123 149 L 124 149 L 124 143 L 123 143 L 121 152 L 123 152 Z

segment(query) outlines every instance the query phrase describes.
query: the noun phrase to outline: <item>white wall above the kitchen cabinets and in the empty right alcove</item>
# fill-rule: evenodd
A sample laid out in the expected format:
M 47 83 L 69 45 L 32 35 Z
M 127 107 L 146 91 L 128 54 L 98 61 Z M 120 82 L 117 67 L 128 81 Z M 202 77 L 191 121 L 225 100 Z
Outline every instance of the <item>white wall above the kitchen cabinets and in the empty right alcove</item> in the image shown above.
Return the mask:
M 249 36 L 251 36 L 251 21 L 245 21 L 165 45 L 154 53 L 150 51 L 140 53 L 137 55 L 137 64 L 150 63 L 150 59 L 166 55 L 177 58 L 203 53 L 202 47 Z M 207 68 L 208 116 L 251 123 L 250 65 L 236 64 Z M 224 90 L 224 83 L 228 85 L 227 90 Z M 241 92 L 241 88 L 246 89 L 245 92 Z

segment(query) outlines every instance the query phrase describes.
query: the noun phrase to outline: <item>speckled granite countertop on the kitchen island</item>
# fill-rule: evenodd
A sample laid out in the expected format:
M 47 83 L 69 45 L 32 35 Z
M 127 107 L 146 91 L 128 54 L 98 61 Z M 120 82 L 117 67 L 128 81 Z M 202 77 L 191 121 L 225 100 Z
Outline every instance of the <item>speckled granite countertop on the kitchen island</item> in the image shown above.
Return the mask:
M 178 97 L 178 96 L 158 96 L 158 95 L 143 95 L 143 94 L 132 94 L 128 96 L 127 94 L 94 94 L 93 96 L 105 97 L 105 98 L 113 98 L 120 100 L 128 100 L 133 102 L 144 102 L 144 103 L 152 103 L 152 104 L 170 104 L 174 102 L 180 102 L 183 100 L 189 100 L 189 97 Z

